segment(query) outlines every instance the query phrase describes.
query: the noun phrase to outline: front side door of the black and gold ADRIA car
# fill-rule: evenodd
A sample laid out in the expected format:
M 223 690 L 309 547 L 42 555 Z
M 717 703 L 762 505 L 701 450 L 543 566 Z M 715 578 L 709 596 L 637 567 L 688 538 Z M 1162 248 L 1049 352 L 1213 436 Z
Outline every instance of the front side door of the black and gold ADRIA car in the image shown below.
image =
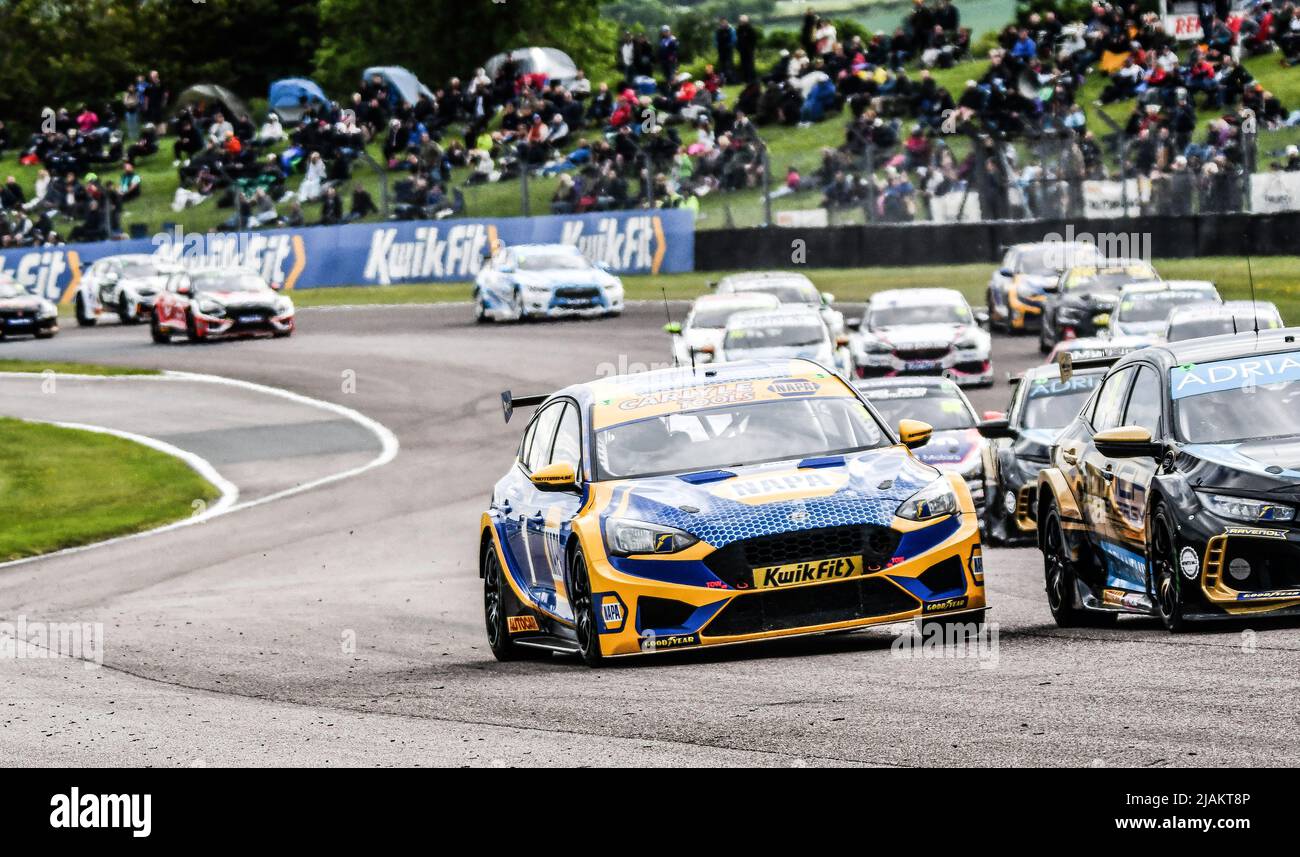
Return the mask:
M 1154 367 L 1138 364 L 1124 407 L 1124 427 L 1140 427 L 1160 440 L 1165 391 Z M 1114 476 L 1106 482 L 1106 510 L 1114 542 L 1106 549 L 1108 584 L 1147 592 L 1147 497 L 1158 462 L 1153 456 L 1106 459 Z

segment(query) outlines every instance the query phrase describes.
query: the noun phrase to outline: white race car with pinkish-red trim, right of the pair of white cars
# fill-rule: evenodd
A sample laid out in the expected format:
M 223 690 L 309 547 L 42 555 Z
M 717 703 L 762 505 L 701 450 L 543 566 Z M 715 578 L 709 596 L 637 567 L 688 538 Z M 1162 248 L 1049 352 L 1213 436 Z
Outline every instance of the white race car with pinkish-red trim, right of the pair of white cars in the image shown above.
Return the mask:
M 993 384 L 992 338 L 953 289 L 878 291 L 850 337 L 858 377 L 941 375 L 961 386 Z

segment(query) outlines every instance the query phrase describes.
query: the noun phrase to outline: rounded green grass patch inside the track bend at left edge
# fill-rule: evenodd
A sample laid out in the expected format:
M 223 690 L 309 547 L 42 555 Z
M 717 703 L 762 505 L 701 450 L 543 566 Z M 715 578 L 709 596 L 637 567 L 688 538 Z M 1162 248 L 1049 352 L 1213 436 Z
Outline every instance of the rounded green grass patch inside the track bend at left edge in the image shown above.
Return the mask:
M 0 562 L 153 529 L 218 495 L 147 446 L 0 417 Z

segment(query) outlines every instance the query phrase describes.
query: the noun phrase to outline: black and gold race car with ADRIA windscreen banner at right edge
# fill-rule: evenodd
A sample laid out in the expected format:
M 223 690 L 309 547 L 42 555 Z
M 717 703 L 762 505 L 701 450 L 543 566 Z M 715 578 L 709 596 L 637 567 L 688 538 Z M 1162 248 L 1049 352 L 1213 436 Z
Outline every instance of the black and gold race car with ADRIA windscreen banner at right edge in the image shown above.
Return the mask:
M 1300 615 L 1300 328 L 1115 363 L 1039 473 L 1057 624 Z

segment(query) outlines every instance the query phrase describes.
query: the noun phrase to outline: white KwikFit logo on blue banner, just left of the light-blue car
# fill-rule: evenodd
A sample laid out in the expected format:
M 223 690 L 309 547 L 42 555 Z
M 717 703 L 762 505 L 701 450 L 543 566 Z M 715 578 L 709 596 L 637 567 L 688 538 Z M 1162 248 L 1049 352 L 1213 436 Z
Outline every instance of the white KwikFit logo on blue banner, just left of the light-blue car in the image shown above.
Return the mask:
M 399 241 L 400 231 L 382 226 L 370 234 L 361 274 L 365 282 L 387 286 L 407 280 L 469 280 L 493 243 L 486 224 L 419 226 L 410 241 Z

